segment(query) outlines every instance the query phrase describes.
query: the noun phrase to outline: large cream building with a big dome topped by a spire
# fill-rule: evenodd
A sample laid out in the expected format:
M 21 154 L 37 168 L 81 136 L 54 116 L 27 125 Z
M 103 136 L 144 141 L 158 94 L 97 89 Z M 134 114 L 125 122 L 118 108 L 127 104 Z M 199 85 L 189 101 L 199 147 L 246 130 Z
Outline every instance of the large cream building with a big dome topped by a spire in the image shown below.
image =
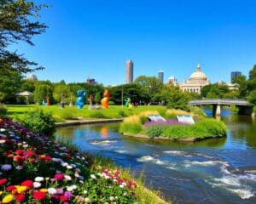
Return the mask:
M 180 88 L 183 91 L 201 94 L 201 88 L 208 84 L 210 84 L 209 78 L 201 71 L 201 65 L 198 63 L 196 71 L 180 85 Z

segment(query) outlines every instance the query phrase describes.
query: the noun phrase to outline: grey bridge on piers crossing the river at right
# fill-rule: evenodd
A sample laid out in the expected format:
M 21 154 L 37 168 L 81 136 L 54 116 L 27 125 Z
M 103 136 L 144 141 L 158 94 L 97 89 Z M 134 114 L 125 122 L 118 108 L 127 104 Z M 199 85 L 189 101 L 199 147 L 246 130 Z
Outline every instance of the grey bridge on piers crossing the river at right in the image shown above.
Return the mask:
M 244 99 L 193 99 L 189 101 L 189 105 L 212 105 L 212 115 L 220 115 L 221 105 L 236 105 L 239 108 L 239 114 L 251 115 L 253 113 L 253 105 L 250 105 Z

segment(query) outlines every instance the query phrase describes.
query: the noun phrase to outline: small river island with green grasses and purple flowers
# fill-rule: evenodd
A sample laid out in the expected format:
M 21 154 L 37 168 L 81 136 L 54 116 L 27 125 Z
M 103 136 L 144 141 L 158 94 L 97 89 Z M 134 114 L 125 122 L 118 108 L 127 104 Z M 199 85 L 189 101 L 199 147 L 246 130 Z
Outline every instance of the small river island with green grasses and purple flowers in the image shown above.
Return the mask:
M 191 115 L 195 124 L 178 122 L 177 115 Z M 161 115 L 166 121 L 148 121 L 148 116 Z M 177 141 L 195 141 L 215 137 L 224 137 L 227 127 L 224 122 L 206 118 L 193 112 L 166 110 L 166 112 L 145 111 L 126 117 L 119 127 L 119 133 L 144 139 L 167 139 Z

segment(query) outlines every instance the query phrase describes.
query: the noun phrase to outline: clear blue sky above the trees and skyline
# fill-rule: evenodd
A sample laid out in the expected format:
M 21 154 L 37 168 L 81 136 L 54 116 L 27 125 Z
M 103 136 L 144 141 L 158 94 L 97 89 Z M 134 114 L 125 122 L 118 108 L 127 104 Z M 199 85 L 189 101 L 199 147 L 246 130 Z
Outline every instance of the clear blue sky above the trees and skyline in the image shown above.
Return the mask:
M 34 47 L 13 48 L 44 65 L 40 80 L 104 85 L 125 83 L 125 61 L 134 78 L 174 76 L 178 82 L 198 62 L 211 82 L 230 82 L 230 71 L 247 75 L 256 64 L 256 1 L 248 0 L 37 0 L 50 8 L 49 26 Z

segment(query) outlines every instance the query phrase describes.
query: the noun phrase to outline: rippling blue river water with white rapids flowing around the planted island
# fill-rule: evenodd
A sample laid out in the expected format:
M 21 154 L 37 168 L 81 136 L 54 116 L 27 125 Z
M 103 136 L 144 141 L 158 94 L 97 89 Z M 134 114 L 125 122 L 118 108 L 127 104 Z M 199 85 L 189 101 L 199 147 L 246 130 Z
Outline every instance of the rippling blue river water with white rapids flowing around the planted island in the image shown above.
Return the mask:
M 211 110 L 205 110 L 207 114 Z M 101 154 L 174 203 L 256 203 L 256 118 L 222 110 L 226 138 L 194 144 L 132 139 L 119 123 L 58 127 L 56 140 Z

